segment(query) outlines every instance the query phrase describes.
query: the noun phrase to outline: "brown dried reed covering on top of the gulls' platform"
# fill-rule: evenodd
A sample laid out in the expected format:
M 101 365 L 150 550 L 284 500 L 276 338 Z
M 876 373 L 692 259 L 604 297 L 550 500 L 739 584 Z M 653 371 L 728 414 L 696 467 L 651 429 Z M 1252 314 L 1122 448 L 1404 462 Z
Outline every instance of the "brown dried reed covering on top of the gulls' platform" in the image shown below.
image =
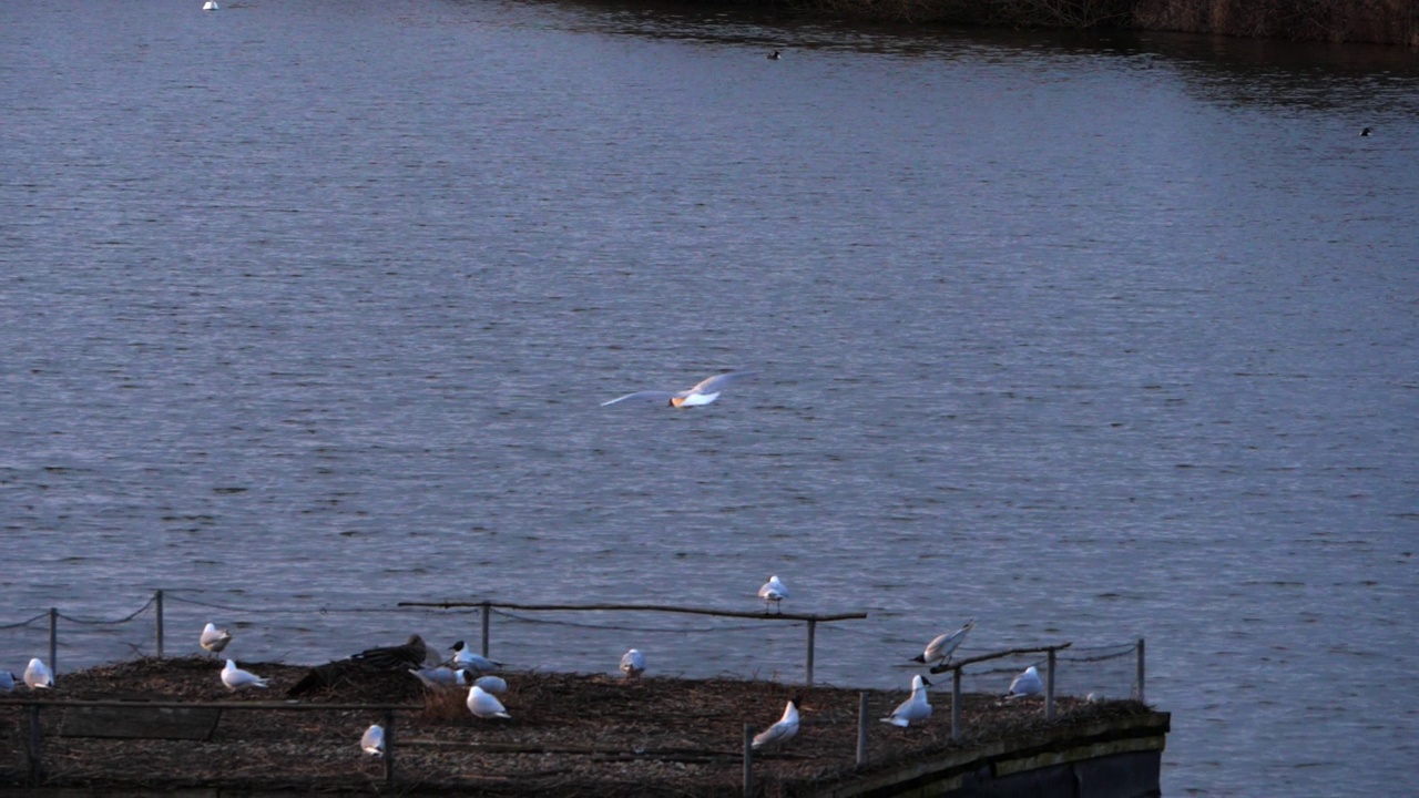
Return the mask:
M 53 700 L 149 699 L 280 701 L 309 669 L 241 663 L 271 680 L 270 690 L 231 694 L 220 663 L 201 657 L 140 659 L 64 674 Z M 383 673 L 302 697 L 302 704 L 383 703 L 397 713 L 397 789 L 481 795 L 738 795 L 744 724 L 763 728 L 800 696 L 799 734 L 755 761 L 768 795 L 810 792 L 853 772 L 858 690 L 795 687 L 734 679 L 623 680 L 606 674 L 507 673 L 501 696 L 512 720 L 480 720 L 465 690 L 427 692 L 413 676 Z M 951 741 L 951 696 L 932 693 L 927 723 L 877 723 L 907 692 L 871 692 L 868 771 L 927 758 L 959 745 L 1027 734 L 1044 726 L 1043 703 L 999 706 L 993 696 L 962 701 L 968 737 Z M 92 789 L 220 787 L 260 792 L 370 792 L 386 788 L 383 764 L 359 750 L 377 711 L 265 711 L 224 709 L 210 740 L 98 740 L 62 737 L 64 711 L 43 710 L 47 785 Z M 1057 701 L 1056 726 L 1147 713 L 1135 701 Z M 26 778 L 23 710 L 0 706 L 0 787 Z

